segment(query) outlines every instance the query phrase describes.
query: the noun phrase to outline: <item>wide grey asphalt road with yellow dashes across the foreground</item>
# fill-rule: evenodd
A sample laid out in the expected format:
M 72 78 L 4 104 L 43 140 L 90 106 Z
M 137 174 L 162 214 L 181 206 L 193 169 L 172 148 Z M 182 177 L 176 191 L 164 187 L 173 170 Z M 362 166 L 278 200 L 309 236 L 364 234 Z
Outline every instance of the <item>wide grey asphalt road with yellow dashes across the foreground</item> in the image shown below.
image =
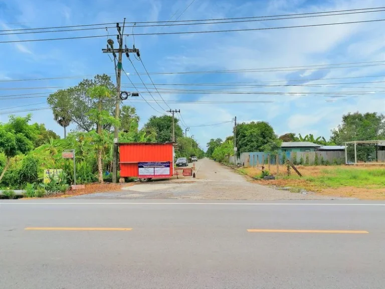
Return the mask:
M 2 200 L 0 287 L 363 289 L 385 284 L 384 203 L 200 202 L 206 203 Z M 31 227 L 36 230 L 26 230 Z

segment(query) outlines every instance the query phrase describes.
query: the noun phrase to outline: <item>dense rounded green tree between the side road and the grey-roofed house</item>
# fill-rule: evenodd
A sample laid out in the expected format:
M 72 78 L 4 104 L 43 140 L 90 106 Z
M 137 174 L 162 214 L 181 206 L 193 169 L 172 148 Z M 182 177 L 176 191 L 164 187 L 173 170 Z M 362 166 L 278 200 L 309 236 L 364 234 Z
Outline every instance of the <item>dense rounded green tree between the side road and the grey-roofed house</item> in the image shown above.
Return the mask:
M 269 151 L 280 145 L 273 127 L 265 122 L 242 122 L 237 124 L 238 154 Z

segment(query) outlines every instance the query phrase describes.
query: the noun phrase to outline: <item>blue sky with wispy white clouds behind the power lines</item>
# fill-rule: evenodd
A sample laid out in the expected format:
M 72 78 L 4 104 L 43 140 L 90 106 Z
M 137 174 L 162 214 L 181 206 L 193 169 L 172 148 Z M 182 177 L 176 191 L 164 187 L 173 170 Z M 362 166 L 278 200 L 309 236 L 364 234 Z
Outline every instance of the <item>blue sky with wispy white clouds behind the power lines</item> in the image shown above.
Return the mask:
M 166 21 L 175 12 L 175 16 L 191 3 L 191 0 L 179 1 L 1 1 L 0 30 L 19 28 L 40 28 L 53 26 L 69 26 L 94 23 Z M 312 13 L 321 11 L 347 10 L 357 8 L 381 7 L 383 1 L 305 1 L 305 0 L 196 0 L 179 18 L 212 19 L 229 17 L 250 17 L 280 14 Z M 365 21 L 385 19 L 385 12 L 364 13 L 334 17 L 304 18 L 292 20 L 262 21 L 221 25 L 200 25 L 190 27 L 136 27 L 134 33 L 175 32 L 175 31 L 207 31 L 226 29 L 267 28 L 280 26 L 298 26 L 333 22 Z M 135 47 L 140 49 L 141 58 L 149 72 L 185 72 L 232 70 L 250 68 L 292 67 L 305 65 L 328 65 L 336 63 L 385 61 L 385 36 L 383 22 L 359 23 L 311 28 L 295 28 L 280 30 L 261 30 L 249 32 L 188 34 L 188 35 L 156 35 L 136 36 Z M 114 26 L 114 25 L 110 25 Z M 109 29 L 109 34 L 115 34 Z M 132 28 L 125 31 L 131 34 Z M 3 32 L 2 32 L 3 33 Z M 113 64 L 107 55 L 101 53 L 106 47 L 107 32 L 105 29 L 42 33 L 25 35 L 0 35 L 0 41 L 23 39 L 45 39 L 59 37 L 106 35 L 101 38 L 0 43 L 0 96 L 25 93 L 50 93 L 55 88 L 76 85 L 81 78 L 57 80 L 11 82 L 15 79 L 70 77 L 95 75 L 101 73 L 114 74 Z M 115 39 L 115 38 L 114 38 Z M 132 47 L 134 39 L 125 39 L 128 47 Z M 140 62 L 133 60 L 136 69 L 144 72 Z M 385 81 L 384 66 L 362 66 L 344 69 L 301 69 L 290 71 L 249 72 L 249 73 L 215 73 L 215 74 L 173 74 L 152 75 L 156 84 L 186 83 L 229 83 L 229 82 L 261 82 L 263 84 L 318 84 L 345 83 L 357 81 Z M 123 68 L 130 74 L 134 83 L 140 83 L 133 75 L 133 67 L 126 59 Z M 382 76 L 369 77 L 367 76 Z M 330 80 L 329 78 L 360 77 Z M 143 75 L 143 80 L 150 83 Z M 290 81 L 301 80 L 302 81 Z M 306 79 L 319 79 L 307 81 Z M 277 82 L 280 81 L 280 82 Z M 128 79 L 123 75 L 122 83 L 126 90 Z M 257 83 L 261 84 L 261 83 Z M 148 86 L 153 90 L 153 87 Z M 24 88 L 24 89 L 21 89 Z M 35 89 L 32 89 L 35 88 Z M 192 127 L 194 125 L 225 122 L 237 116 L 238 121 L 265 120 L 275 129 L 277 134 L 296 132 L 330 135 L 330 129 L 336 127 L 341 116 L 347 112 L 385 112 L 383 98 L 385 84 L 335 84 L 329 86 L 285 86 L 285 87 L 218 87 L 218 86 L 158 86 L 165 101 L 173 109 L 180 109 L 185 123 L 191 126 L 191 133 L 202 147 L 210 138 L 222 137 L 232 133 L 232 123 L 217 126 Z M 231 88 L 231 89 L 229 89 Z M 167 93 L 163 89 L 221 89 L 238 92 L 276 92 L 276 94 L 186 94 Z M 143 88 L 139 89 L 143 91 Z M 322 93 L 359 92 L 357 97 L 330 97 Z M 277 94 L 280 93 L 280 94 Z M 296 93 L 297 95 L 284 94 Z M 313 94 L 312 94 L 313 93 Z M 319 94 L 314 94 L 319 93 Z M 363 94 L 363 95 L 361 95 Z M 44 94 L 45 95 L 45 94 Z M 329 94 L 330 95 L 330 94 Z M 333 94 L 332 94 L 333 95 Z M 148 94 L 143 94 L 151 99 Z M 159 96 L 159 104 L 162 103 Z M 0 100 L 0 113 L 9 110 L 44 107 L 46 98 L 14 97 Z M 172 103 L 170 101 L 232 101 L 232 100 L 269 100 L 272 103 Z M 327 102 L 328 100 L 329 102 Z M 330 102 L 333 101 L 333 102 Z M 127 102 L 130 104 L 130 102 Z M 11 108 L 34 104 L 34 106 Z M 162 111 L 155 103 L 156 109 Z M 137 102 L 141 124 L 151 115 L 160 115 L 147 104 Z M 4 109 L 8 108 L 10 109 Z M 16 113 L 25 115 L 27 112 Z M 6 121 L 7 115 L 0 114 L 0 121 Z M 50 110 L 33 112 L 33 121 L 45 123 L 48 128 L 60 135 L 62 128 L 55 123 Z M 74 126 L 72 126 L 74 128 Z M 183 127 L 184 128 L 184 127 Z

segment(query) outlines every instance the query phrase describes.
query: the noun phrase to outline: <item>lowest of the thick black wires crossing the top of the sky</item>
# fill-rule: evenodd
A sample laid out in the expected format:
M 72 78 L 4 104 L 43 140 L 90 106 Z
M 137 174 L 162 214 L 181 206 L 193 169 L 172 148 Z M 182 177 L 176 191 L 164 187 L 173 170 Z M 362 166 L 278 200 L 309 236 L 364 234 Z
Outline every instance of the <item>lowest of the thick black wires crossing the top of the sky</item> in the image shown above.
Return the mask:
M 312 25 L 298 25 L 298 26 L 249 28 L 249 29 L 227 29 L 227 30 L 210 30 L 210 31 L 184 31 L 184 32 L 180 31 L 180 32 L 136 33 L 136 34 L 132 34 L 132 35 L 133 36 L 145 36 L 145 35 L 178 35 L 178 34 L 246 32 L 246 31 L 261 31 L 261 30 L 277 30 L 277 29 L 291 29 L 291 28 L 321 27 L 321 26 L 342 25 L 342 24 L 371 23 L 371 22 L 380 22 L 380 21 L 385 21 L 385 19 L 351 21 L 351 22 L 339 22 L 339 23 L 324 23 L 324 24 L 312 24 Z M 125 35 L 125 36 L 129 36 L 129 35 Z M 39 41 L 54 41 L 54 40 L 69 40 L 69 39 L 86 39 L 86 38 L 97 38 L 97 37 L 106 37 L 106 36 L 105 35 L 94 35 L 94 36 L 64 37 L 64 38 L 10 40 L 10 41 L 0 41 L 0 43 L 39 42 Z

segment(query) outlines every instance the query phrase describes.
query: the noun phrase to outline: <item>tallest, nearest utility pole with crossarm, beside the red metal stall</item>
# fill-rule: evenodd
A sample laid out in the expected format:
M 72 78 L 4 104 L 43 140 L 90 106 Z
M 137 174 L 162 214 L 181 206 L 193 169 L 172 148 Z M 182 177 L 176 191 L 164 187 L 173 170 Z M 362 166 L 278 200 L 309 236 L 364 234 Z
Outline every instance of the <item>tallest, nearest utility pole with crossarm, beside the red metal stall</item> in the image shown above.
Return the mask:
M 124 100 L 127 98 L 123 98 L 120 93 L 120 84 L 121 84 L 121 73 L 122 73 L 122 54 L 125 53 L 128 57 L 128 53 L 136 53 L 138 56 L 139 49 L 135 47 L 133 49 L 128 49 L 125 47 L 123 49 L 123 36 L 124 36 L 124 26 L 126 23 L 126 19 L 124 18 L 123 27 L 119 26 L 119 23 L 116 23 L 116 29 L 118 34 L 116 38 L 118 40 L 119 48 L 114 49 L 114 41 L 112 39 L 107 40 L 107 49 L 102 49 L 103 53 L 112 53 L 114 56 L 114 64 L 115 64 L 115 75 L 116 75 L 116 98 L 115 98 L 115 119 L 118 122 L 120 113 L 120 100 Z M 116 54 L 118 54 L 118 64 L 116 65 Z M 126 93 L 126 92 L 125 92 Z M 126 93 L 127 94 L 127 93 Z M 136 95 L 135 95 L 136 96 Z M 118 171 L 118 138 L 119 138 L 119 126 L 115 124 L 114 126 L 114 147 L 113 147 L 113 160 L 112 160 L 112 182 L 116 183 L 117 179 L 117 171 Z

